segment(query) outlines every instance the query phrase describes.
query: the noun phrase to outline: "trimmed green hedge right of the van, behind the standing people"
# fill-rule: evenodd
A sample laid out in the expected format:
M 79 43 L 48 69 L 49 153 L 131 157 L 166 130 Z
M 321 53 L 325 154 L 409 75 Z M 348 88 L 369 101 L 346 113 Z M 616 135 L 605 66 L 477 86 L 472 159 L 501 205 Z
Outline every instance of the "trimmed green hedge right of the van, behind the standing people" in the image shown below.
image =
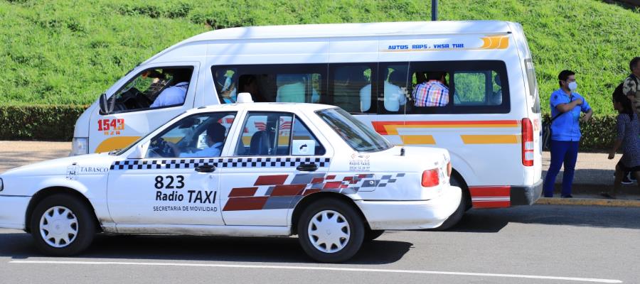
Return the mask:
M 543 114 L 543 120 L 548 121 L 549 114 Z M 580 151 L 609 149 L 616 138 L 616 116 L 594 115 L 588 123 L 580 122 Z

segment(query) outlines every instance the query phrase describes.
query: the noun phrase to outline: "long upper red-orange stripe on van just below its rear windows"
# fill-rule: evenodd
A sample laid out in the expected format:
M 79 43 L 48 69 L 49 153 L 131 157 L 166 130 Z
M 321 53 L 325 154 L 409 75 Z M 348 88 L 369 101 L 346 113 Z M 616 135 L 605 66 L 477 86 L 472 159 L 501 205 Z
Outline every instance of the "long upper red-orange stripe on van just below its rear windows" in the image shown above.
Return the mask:
M 486 121 L 372 121 L 373 129 L 382 135 L 398 135 L 398 129 L 427 128 L 512 128 L 518 127 L 517 120 Z

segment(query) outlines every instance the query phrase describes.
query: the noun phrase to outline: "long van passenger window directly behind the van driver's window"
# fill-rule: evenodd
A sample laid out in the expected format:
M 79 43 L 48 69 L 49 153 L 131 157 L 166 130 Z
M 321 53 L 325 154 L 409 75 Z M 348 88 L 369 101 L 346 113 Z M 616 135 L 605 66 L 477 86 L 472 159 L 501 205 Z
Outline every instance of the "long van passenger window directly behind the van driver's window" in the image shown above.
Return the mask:
M 249 92 L 254 102 L 318 103 L 326 92 L 326 71 L 326 64 L 211 67 L 221 104 L 235 102 L 240 92 Z

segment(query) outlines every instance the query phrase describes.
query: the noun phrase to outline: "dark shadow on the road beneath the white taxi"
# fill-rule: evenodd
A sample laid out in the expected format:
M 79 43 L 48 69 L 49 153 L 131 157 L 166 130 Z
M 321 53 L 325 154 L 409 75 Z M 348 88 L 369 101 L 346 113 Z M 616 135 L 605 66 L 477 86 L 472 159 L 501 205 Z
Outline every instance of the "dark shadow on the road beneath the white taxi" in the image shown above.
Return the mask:
M 412 246 L 404 241 L 372 241 L 363 244 L 347 263 L 394 263 Z M 22 259 L 42 255 L 33 245 L 31 235 L 16 231 L 0 234 L 0 256 Z M 92 246 L 77 258 L 314 263 L 302 251 L 297 238 L 287 237 L 98 235 Z

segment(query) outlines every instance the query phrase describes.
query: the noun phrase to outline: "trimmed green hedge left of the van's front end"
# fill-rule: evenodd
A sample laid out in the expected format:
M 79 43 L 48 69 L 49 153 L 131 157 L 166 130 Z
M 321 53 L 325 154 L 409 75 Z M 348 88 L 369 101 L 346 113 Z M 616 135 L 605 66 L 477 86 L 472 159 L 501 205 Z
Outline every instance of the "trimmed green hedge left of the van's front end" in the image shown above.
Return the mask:
M 75 121 L 87 107 L 0 106 L 0 139 L 71 141 Z

